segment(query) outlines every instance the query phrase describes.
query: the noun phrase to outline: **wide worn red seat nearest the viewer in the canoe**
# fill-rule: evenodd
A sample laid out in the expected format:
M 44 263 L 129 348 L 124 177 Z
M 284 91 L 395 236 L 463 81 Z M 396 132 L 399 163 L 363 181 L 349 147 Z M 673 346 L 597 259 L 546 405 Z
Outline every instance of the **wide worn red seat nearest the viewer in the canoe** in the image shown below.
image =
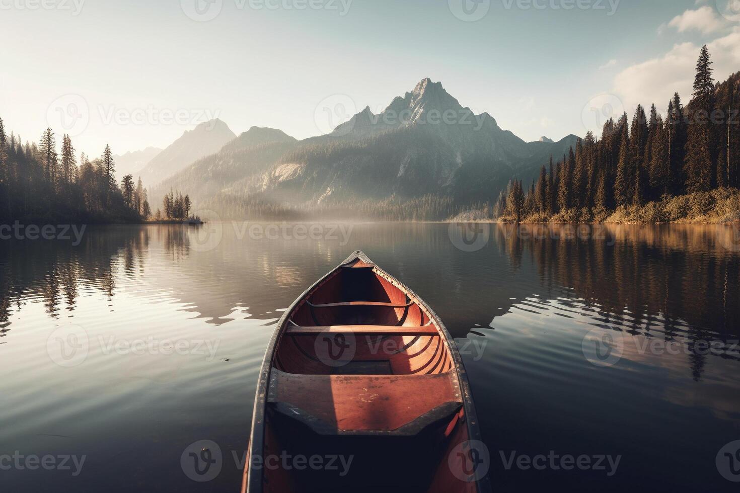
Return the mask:
M 320 435 L 414 435 L 462 405 L 454 372 L 295 375 L 273 369 L 268 402 Z

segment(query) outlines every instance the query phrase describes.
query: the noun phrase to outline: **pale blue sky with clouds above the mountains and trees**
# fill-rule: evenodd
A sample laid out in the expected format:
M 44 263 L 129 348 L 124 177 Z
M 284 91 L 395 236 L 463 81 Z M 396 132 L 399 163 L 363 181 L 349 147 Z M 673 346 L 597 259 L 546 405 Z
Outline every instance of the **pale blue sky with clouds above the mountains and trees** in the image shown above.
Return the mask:
M 7 131 L 93 156 L 211 118 L 320 135 L 426 77 L 559 140 L 688 101 L 702 44 L 717 79 L 740 70 L 740 0 L 0 0 L 0 40 Z

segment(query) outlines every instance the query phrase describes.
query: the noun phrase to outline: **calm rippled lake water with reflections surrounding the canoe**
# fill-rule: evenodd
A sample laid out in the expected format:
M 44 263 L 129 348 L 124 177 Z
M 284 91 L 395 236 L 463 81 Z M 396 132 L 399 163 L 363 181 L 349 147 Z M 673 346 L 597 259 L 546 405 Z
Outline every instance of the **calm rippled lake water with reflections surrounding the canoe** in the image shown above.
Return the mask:
M 221 231 L 203 242 L 212 228 Z M 356 249 L 416 290 L 456 338 L 496 491 L 736 491 L 722 473 L 740 473 L 740 455 L 717 462 L 740 440 L 735 231 L 573 238 L 485 225 L 473 238 L 448 225 L 344 225 L 344 241 L 332 228 L 314 239 L 259 228 L 0 242 L 0 455 L 85 460 L 52 470 L 21 460 L 0 469 L 4 491 L 237 492 L 280 310 Z M 223 456 L 203 483 L 181 467 L 200 440 Z M 506 466 L 512 454 L 551 451 L 621 458 L 616 472 L 606 460 L 606 470 Z

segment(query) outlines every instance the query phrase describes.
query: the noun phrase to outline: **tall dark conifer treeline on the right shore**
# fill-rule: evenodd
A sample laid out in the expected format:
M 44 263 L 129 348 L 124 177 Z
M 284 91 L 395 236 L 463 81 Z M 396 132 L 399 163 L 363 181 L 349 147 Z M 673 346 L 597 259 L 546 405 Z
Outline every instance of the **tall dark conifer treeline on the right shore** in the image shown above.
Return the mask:
M 631 122 L 626 112 L 610 118 L 600 140 L 588 132 L 562 160 L 551 157 L 529 188 L 511 181 L 495 213 L 513 221 L 600 222 L 657 200 L 737 188 L 740 72 L 715 84 L 712 63 L 704 46 L 687 106 L 675 93 L 665 119 L 655 104 L 649 115 L 637 106 Z M 703 197 L 699 202 L 709 200 Z

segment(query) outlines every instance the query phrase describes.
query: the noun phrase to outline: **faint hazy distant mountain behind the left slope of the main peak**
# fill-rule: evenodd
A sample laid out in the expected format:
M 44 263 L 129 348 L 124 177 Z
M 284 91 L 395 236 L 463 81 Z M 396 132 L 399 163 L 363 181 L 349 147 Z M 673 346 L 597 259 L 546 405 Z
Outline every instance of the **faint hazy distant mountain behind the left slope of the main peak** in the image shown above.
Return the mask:
M 141 179 L 144 183 L 155 185 L 201 157 L 217 152 L 235 137 L 229 126 L 218 118 L 201 123 L 195 129 L 184 132 L 178 140 L 150 160 L 141 170 Z

